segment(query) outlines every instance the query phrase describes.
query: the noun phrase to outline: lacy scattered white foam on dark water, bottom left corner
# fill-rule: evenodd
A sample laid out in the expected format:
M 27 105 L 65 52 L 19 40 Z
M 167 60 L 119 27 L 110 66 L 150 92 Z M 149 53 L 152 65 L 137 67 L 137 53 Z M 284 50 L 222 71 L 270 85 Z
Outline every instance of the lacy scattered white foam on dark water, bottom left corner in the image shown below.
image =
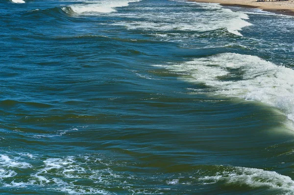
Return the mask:
M 20 153 L 18 155 L 20 156 L 0 155 L 0 185 L 11 188 L 26 188 L 29 186 L 49 187 L 49 189 L 56 192 L 74 195 L 108 195 L 110 194 L 109 192 L 99 187 L 80 185 L 77 180 L 86 179 L 92 185 L 99 183 L 104 186 L 110 185 L 110 181 L 115 180 L 117 182 L 118 178 L 123 178 L 123 176 L 114 173 L 108 168 L 107 163 L 101 162 L 101 158 L 67 156 L 65 158 L 47 158 L 40 161 L 32 154 Z M 21 158 L 21 156 L 25 158 Z M 32 161 L 33 164 L 25 162 L 27 159 Z M 103 168 L 99 169 L 99 165 Z M 93 169 L 92 166 L 96 169 Z M 29 178 L 16 178 L 19 168 L 33 168 L 34 171 L 29 174 Z M 15 178 L 12 181 L 11 179 L 5 180 L 8 177 Z

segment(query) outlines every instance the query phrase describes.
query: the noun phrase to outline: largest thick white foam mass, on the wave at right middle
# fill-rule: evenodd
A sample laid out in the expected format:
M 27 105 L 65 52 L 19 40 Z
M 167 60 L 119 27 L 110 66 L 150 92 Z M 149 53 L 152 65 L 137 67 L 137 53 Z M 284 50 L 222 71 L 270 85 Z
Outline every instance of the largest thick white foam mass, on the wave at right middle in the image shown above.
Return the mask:
M 205 84 L 212 95 L 268 104 L 294 121 L 294 70 L 257 56 L 222 53 L 183 64 L 160 66 L 186 72 L 186 81 Z

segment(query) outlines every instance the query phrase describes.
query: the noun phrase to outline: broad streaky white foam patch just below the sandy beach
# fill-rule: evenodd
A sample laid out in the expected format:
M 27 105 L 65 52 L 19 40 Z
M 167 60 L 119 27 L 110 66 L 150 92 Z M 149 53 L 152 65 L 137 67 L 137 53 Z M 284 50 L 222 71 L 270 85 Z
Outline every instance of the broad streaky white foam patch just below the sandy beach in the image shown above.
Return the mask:
M 178 11 L 166 9 L 159 11 L 158 7 L 146 8 L 139 11 L 136 15 L 124 15 L 123 17 L 136 18 L 132 22 L 118 22 L 114 25 L 124 25 L 128 29 L 156 30 L 156 31 L 211 31 L 216 29 L 227 29 L 230 33 L 242 36 L 240 31 L 243 27 L 252 25 L 246 20 L 248 15 L 242 12 L 234 12 L 230 9 L 223 8 L 216 3 L 196 3 L 203 9 L 201 12 L 194 10 Z M 212 14 L 213 11 L 213 14 Z M 158 12 L 160 14 L 158 14 Z M 156 35 L 156 33 L 155 33 Z M 163 37 L 162 33 L 158 36 Z

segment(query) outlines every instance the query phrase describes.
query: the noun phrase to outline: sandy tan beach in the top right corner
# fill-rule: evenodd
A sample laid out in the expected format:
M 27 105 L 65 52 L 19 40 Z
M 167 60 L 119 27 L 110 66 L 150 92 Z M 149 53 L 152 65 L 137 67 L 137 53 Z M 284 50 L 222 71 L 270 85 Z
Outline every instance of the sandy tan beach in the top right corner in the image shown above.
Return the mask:
M 287 1 L 261 1 L 256 0 L 188 0 L 202 3 L 220 3 L 222 6 L 236 6 L 257 8 L 276 14 L 294 16 L 294 0 Z

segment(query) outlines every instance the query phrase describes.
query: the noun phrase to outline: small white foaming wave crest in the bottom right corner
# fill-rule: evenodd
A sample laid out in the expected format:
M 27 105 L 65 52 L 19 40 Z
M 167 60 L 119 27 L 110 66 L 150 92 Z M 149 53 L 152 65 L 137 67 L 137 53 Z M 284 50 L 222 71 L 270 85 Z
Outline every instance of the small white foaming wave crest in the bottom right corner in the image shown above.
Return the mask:
M 231 167 L 214 175 L 202 176 L 198 180 L 205 182 L 204 184 L 222 181 L 226 184 L 246 185 L 251 188 L 267 187 L 294 192 L 294 181 L 291 177 L 262 169 Z

